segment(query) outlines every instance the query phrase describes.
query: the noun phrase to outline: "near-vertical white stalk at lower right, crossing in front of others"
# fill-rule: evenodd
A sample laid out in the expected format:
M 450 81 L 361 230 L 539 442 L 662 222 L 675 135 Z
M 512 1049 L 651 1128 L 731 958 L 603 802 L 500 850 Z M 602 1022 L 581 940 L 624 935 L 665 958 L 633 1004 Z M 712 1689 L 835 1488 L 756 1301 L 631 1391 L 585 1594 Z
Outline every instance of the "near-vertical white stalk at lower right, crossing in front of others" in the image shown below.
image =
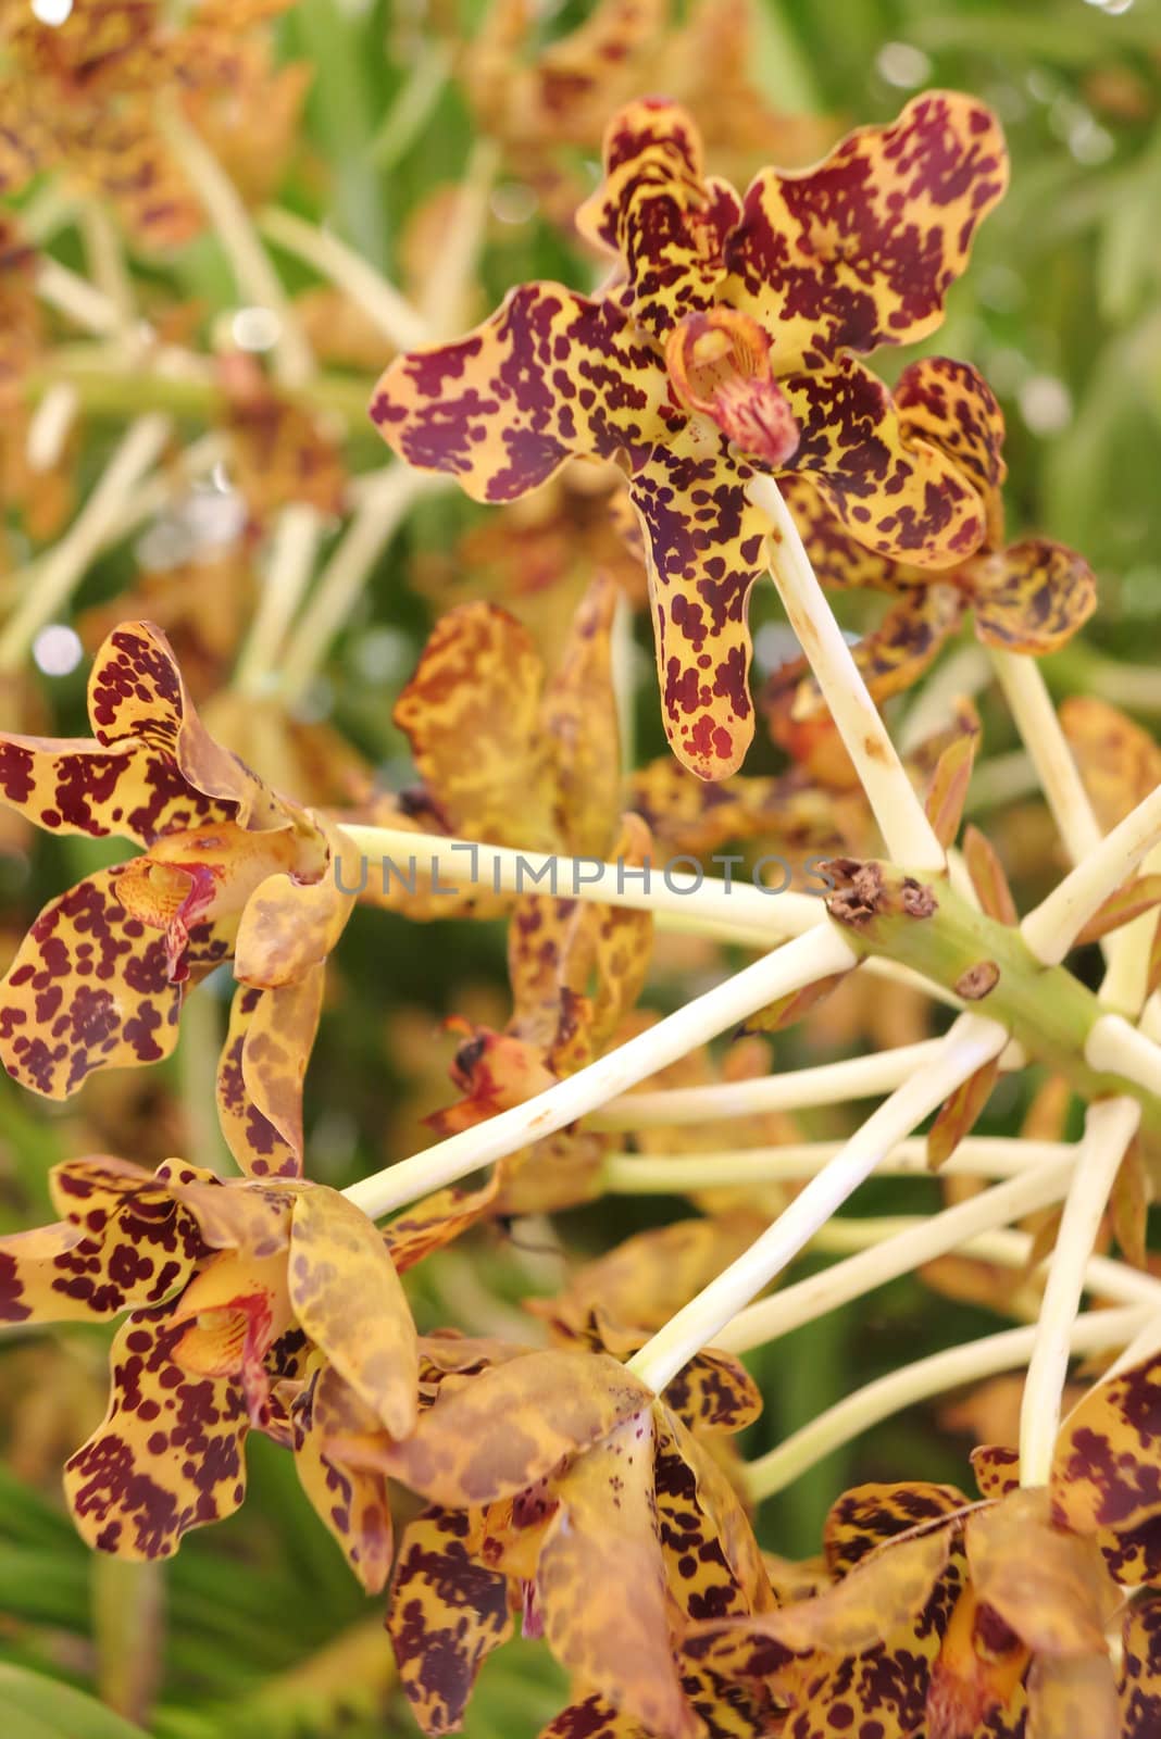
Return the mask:
M 1020 1483 L 1045 1485 L 1060 1428 L 1060 1395 L 1069 1369 L 1069 1334 L 1085 1290 L 1100 1219 L 1125 1151 L 1137 1134 L 1135 1099 L 1100 1099 L 1088 1108 L 1081 1158 L 1072 1177 L 1057 1247 L 1048 1268 L 1036 1344 L 1020 1407 Z

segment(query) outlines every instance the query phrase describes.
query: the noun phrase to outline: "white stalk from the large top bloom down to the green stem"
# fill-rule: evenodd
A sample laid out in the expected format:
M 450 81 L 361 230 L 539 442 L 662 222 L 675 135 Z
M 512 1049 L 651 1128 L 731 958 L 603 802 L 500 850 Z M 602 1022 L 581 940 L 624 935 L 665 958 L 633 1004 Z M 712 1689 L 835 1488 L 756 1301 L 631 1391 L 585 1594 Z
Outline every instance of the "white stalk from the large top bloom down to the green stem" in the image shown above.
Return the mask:
M 772 476 L 756 476 L 749 485 L 749 497 L 773 525 L 770 541 L 773 583 L 855 765 L 888 854 L 909 870 L 940 871 L 944 847 L 932 831 L 923 803 L 834 621 L 777 482 Z

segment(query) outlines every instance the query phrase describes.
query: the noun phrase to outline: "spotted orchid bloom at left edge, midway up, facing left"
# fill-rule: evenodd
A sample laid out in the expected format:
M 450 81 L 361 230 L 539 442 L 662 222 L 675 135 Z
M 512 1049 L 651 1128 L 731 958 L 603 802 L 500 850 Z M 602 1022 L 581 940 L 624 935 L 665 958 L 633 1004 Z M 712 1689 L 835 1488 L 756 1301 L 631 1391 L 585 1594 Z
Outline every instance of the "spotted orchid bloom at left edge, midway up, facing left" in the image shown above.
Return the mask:
M 143 856 L 50 901 L 0 981 L 0 1057 L 49 1099 L 177 1043 L 186 989 L 233 958 L 222 1125 L 255 1174 L 301 1169 L 323 962 L 351 911 L 339 835 L 205 730 L 169 642 L 123 623 L 89 678 L 92 741 L 0 736 L 0 798 L 49 833 Z

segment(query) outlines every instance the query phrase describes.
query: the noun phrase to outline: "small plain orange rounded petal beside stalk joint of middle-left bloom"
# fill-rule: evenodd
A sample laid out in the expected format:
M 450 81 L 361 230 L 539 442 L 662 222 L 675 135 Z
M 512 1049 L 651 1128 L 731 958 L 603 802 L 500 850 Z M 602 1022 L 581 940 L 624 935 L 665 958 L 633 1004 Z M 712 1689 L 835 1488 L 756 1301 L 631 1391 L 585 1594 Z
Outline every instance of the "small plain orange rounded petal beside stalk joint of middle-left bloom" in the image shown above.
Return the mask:
M 328 840 L 322 828 L 315 842 L 304 840 L 308 873 L 269 875 L 247 899 L 235 943 L 235 977 L 242 984 L 297 984 L 325 965 L 342 936 L 355 894 L 342 890 L 348 883 L 341 885 L 335 870 L 339 842 L 334 830 L 327 831 Z

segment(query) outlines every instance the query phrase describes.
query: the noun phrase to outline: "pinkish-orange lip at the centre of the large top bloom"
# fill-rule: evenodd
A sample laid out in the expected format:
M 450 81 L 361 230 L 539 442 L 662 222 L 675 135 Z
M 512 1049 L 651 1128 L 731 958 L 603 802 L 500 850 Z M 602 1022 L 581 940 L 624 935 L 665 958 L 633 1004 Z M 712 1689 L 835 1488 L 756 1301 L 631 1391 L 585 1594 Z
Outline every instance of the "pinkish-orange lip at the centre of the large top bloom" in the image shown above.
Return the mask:
M 801 431 L 770 367 L 770 339 L 749 315 L 711 308 L 669 334 L 666 367 L 687 409 L 713 417 L 742 452 L 786 464 Z

